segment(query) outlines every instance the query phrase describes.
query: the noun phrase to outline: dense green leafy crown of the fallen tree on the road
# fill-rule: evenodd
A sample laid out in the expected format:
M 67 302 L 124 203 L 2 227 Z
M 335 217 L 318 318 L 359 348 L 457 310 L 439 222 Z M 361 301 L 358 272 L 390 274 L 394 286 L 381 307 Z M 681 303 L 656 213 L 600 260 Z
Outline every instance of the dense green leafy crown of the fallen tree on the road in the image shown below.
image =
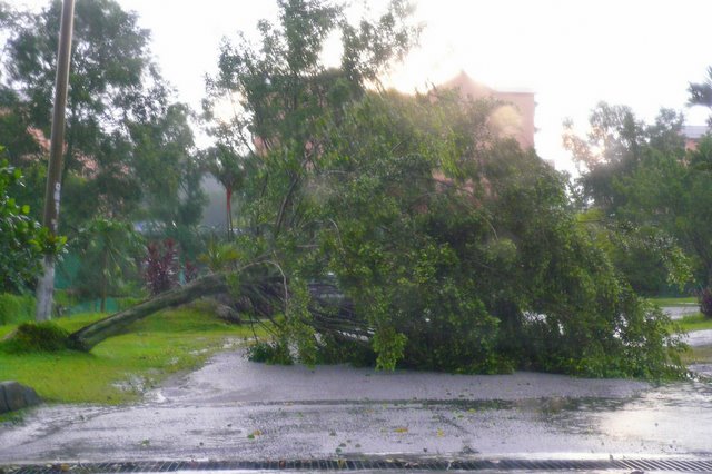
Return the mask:
M 324 225 L 297 236 L 318 244 L 298 271 L 335 275 L 380 368 L 681 374 L 669 319 L 578 223 L 564 178 L 512 141 L 483 146 L 487 107 L 456 100 L 344 111 L 299 196 Z

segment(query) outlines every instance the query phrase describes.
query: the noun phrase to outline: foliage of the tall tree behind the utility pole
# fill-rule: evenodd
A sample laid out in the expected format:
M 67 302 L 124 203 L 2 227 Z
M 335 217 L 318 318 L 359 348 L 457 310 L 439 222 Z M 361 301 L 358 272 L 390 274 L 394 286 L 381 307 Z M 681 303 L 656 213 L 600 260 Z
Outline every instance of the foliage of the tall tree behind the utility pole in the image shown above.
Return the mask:
M 61 1 L 52 1 L 2 26 L 0 139 L 28 171 L 46 168 L 60 13 Z M 98 216 L 195 226 L 206 197 L 191 112 L 171 101 L 149 31 L 113 0 L 79 0 L 72 43 L 60 228 Z M 28 194 L 39 199 L 44 180 L 36 174 Z

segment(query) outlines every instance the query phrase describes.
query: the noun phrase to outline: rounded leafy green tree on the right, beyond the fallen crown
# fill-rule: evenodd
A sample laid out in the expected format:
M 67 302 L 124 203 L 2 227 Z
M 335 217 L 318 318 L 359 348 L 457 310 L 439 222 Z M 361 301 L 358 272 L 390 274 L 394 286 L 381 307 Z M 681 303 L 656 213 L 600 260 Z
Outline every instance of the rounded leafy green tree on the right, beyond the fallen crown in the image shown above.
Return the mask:
M 649 295 L 682 292 L 694 270 L 708 267 L 699 225 L 708 185 L 688 169 L 682 124 L 682 115 L 662 109 L 655 124 L 643 126 L 629 108 L 602 103 L 587 140 L 571 129 L 564 137 L 585 167 L 577 182 L 586 213 L 600 213 L 589 228 L 633 287 Z

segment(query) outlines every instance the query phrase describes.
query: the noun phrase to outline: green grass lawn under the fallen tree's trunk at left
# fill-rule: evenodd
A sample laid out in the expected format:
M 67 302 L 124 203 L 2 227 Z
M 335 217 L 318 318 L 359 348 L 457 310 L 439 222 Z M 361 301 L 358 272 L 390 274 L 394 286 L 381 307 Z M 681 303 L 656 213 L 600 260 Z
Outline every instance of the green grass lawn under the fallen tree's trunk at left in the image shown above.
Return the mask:
M 106 315 L 83 314 L 55 322 L 69 332 Z M 16 326 L 0 326 L 0 339 Z M 176 372 L 198 367 L 227 339 L 253 335 L 192 308 L 158 313 L 131 325 L 90 353 L 9 354 L 0 350 L 0 381 L 33 387 L 46 401 L 120 404 L 136 401 Z

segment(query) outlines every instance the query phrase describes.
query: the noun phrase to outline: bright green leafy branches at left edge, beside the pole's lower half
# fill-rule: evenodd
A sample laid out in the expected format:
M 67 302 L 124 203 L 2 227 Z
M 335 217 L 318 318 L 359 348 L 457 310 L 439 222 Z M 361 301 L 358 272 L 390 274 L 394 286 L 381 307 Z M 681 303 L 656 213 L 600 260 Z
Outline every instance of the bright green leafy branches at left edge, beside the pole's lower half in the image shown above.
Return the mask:
M 2 148 L 0 148 L 0 152 Z M 53 237 L 32 219 L 30 207 L 20 205 L 9 194 L 21 185 L 22 172 L 0 160 L 0 292 L 19 292 L 32 287 L 44 254 L 59 254 L 65 237 Z

